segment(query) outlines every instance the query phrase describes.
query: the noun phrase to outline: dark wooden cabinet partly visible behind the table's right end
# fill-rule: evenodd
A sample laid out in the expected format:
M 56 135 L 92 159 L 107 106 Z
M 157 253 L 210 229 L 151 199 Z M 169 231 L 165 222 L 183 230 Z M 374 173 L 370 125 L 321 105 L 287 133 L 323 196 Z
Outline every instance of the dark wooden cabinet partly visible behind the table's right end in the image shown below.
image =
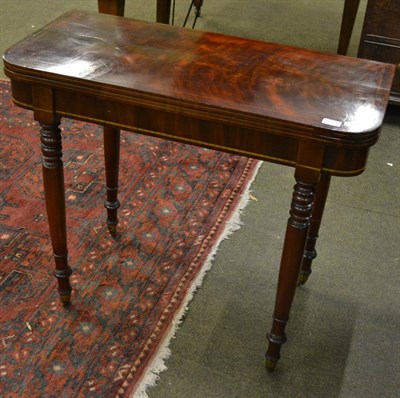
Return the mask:
M 369 0 L 358 56 L 397 65 L 390 101 L 400 105 L 400 0 Z

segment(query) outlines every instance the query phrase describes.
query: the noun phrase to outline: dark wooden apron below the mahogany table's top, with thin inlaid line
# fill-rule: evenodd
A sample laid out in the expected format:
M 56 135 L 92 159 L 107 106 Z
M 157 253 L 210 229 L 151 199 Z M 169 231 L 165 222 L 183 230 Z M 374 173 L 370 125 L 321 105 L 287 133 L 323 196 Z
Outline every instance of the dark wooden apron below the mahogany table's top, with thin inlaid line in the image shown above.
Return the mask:
M 47 85 L 46 85 L 47 86 Z M 52 106 L 39 109 L 34 104 L 32 91 L 40 85 L 12 81 L 13 101 L 16 105 L 33 111 L 54 113 L 62 117 L 82 120 L 103 126 L 113 126 L 172 141 L 197 145 L 287 166 L 325 171 L 337 176 L 361 174 L 366 166 L 369 147 L 376 138 L 362 141 L 359 145 L 346 145 L 340 139 L 325 141 L 323 137 L 311 137 L 309 131 L 298 135 L 287 133 L 287 125 L 266 121 L 262 126 L 235 124 L 232 120 L 216 117 L 212 120 L 191 116 L 188 112 L 165 105 L 165 109 L 123 103 L 98 96 L 82 95 L 71 90 L 52 89 Z M 49 101 L 47 101 L 49 102 Z M 68 133 L 68 132 L 66 132 Z M 376 137 L 376 135 L 374 135 Z M 310 148 L 307 164 L 299 160 L 299 148 Z M 320 156 L 312 156 L 317 150 Z M 302 149 L 304 152 L 304 149 Z M 303 156 L 304 157 L 304 156 Z M 301 163 L 299 163 L 299 161 Z

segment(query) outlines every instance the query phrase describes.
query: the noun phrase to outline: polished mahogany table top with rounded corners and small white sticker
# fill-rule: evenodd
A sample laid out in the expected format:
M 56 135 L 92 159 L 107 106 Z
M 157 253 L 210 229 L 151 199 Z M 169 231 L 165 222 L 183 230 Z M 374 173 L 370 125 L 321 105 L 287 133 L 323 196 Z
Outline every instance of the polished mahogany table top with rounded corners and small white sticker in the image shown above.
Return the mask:
M 352 139 L 381 125 L 394 73 L 369 60 L 82 11 L 13 46 L 4 63 L 26 75 Z

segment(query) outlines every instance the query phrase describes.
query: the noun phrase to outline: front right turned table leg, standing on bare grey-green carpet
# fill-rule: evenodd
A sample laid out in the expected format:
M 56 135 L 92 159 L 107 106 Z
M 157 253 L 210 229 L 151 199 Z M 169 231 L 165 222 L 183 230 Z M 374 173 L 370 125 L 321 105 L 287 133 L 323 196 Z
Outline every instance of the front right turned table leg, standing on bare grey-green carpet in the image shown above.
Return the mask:
M 295 177 L 296 185 L 283 245 L 273 323 L 267 335 L 269 345 L 266 352 L 266 367 L 270 371 L 275 369 L 280 358 L 281 346 L 286 341 L 285 327 L 296 291 L 310 227 L 314 190 L 319 179 L 319 175 L 308 173 L 304 169 L 296 170 Z

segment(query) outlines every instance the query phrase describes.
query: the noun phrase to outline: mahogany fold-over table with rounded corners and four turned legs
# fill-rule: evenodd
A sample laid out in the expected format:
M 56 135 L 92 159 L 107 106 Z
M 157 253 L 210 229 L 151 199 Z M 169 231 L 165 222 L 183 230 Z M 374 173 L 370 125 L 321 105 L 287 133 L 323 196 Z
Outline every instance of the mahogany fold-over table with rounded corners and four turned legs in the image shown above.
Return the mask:
M 55 276 L 65 304 L 71 269 L 62 117 L 105 126 L 111 234 L 118 222 L 119 129 L 294 167 L 268 333 L 272 370 L 286 340 L 296 286 L 311 272 L 330 176 L 364 171 L 394 66 L 80 11 L 16 44 L 5 53 L 4 65 L 15 104 L 31 109 L 41 126 Z

